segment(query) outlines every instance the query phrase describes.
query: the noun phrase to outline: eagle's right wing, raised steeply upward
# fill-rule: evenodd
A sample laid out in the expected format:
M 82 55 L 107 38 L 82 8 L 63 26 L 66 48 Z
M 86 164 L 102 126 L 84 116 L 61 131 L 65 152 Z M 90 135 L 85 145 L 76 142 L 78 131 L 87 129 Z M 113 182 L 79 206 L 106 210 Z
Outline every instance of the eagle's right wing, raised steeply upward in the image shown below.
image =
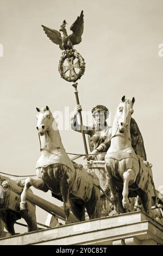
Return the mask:
M 81 12 L 80 16 L 77 17 L 76 21 L 70 27 L 70 30 L 73 32 L 68 36 L 73 45 L 79 44 L 82 41 L 82 34 L 84 31 L 84 14 Z

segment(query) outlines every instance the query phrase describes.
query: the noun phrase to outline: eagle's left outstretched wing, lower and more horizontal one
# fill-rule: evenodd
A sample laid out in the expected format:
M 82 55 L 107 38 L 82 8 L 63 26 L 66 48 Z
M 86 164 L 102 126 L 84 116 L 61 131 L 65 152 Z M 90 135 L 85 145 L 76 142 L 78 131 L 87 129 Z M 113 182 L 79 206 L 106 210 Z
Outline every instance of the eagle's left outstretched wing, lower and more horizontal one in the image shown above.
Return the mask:
M 54 42 L 54 44 L 59 45 L 60 49 L 62 49 L 62 38 L 61 38 L 61 33 L 55 29 L 52 28 L 48 28 L 46 26 L 43 26 L 43 30 L 45 31 L 46 35 L 48 36 L 49 39 L 52 40 L 52 42 Z

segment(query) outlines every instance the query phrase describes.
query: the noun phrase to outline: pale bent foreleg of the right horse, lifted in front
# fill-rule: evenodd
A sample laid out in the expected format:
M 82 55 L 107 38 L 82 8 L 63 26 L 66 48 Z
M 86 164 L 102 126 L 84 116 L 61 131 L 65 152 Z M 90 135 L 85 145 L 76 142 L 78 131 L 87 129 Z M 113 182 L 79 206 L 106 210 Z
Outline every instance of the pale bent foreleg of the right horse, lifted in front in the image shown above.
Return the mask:
M 126 172 L 123 173 L 123 192 L 122 192 L 122 204 L 124 209 L 130 210 L 130 203 L 128 199 L 128 185 L 129 181 L 134 181 L 135 179 L 135 172 L 132 169 L 128 169 Z

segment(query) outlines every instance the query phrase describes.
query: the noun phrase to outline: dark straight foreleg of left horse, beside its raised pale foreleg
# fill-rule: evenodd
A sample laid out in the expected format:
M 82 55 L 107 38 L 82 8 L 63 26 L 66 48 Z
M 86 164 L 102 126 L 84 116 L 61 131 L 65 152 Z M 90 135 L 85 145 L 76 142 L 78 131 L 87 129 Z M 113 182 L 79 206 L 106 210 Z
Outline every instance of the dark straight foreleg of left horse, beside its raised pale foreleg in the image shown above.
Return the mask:
M 60 192 L 64 200 L 64 211 L 65 211 L 65 217 L 67 221 L 70 215 L 69 184 L 67 182 L 67 179 L 61 179 L 59 185 L 60 185 Z

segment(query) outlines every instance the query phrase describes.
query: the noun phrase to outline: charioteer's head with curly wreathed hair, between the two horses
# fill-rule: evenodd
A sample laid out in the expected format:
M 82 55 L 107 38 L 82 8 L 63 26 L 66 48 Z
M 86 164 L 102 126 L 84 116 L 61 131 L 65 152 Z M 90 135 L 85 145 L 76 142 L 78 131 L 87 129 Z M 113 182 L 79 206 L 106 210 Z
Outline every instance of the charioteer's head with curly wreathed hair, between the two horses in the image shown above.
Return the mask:
M 109 110 L 103 105 L 97 105 L 92 108 L 92 115 L 98 124 L 105 124 L 106 119 L 109 117 Z

